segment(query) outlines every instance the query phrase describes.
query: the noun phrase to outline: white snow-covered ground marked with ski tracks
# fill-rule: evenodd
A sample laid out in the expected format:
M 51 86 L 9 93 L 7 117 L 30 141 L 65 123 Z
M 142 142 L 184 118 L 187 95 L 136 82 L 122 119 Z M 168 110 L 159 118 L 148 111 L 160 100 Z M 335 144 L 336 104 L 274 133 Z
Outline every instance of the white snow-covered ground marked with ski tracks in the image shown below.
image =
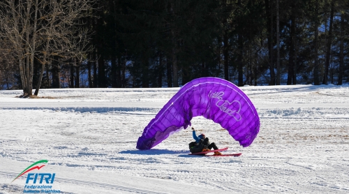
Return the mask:
M 149 151 L 138 137 L 173 89 L 41 89 L 46 98 L 0 91 L 0 193 L 23 193 L 34 173 L 55 173 L 64 193 L 349 193 L 349 85 L 242 87 L 258 110 L 250 147 L 195 117 L 226 153 L 188 156 L 191 129 Z M 11 183 L 11 181 L 13 181 Z

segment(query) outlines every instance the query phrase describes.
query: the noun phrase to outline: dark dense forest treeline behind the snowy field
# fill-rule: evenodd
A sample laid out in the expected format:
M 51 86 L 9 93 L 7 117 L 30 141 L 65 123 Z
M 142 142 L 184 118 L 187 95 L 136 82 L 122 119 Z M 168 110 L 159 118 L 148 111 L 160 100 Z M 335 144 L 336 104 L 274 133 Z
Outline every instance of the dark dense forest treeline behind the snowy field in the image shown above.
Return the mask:
M 54 49 L 64 54 L 52 52 L 45 63 L 47 52 L 33 52 L 34 89 L 179 87 L 207 76 L 238 86 L 349 82 L 347 0 L 94 2 L 67 28 L 78 35 L 74 47 L 61 43 Z M 20 63 L 30 59 L 13 57 L 3 29 L 0 88 L 22 89 Z

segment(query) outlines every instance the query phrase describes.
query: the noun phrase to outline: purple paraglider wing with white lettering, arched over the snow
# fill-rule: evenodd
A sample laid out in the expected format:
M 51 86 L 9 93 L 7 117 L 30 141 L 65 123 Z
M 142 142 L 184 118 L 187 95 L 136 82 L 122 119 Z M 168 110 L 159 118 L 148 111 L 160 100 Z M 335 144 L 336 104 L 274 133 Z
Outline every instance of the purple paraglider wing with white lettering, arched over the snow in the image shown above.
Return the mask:
M 248 147 L 260 129 L 251 100 L 235 84 L 217 77 L 202 77 L 185 84 L 156 114 L 138 138 L 137 149 L 151 149 L 168 136 L 191 126 L 193 117 L 211 119 Z

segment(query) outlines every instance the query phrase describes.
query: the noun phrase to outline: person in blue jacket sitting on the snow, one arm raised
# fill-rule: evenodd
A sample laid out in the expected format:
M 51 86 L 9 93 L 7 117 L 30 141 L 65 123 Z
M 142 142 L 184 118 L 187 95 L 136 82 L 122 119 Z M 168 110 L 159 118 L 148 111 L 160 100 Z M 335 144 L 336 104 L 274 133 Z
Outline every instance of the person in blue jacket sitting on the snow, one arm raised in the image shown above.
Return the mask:
M 214 142 L 212 142 L 211 144 L 209 143 L 209 138 L 206 137 L 204 133 L 201 133 L 199 136 L 196 136 L 195 129 L 193 127 L 191 129 L 193 130 L 193 138 L 195 140 L 195 142 L 191 142 L 189 144 L 189 149 L 191 153 L 197 153 L 201 151 L 210 151 L 212 148 L 214 150 L 218 149 L 218 147 Z M 219 151 L 215 151 L 214 155 L 222 155 L 222 154 Z

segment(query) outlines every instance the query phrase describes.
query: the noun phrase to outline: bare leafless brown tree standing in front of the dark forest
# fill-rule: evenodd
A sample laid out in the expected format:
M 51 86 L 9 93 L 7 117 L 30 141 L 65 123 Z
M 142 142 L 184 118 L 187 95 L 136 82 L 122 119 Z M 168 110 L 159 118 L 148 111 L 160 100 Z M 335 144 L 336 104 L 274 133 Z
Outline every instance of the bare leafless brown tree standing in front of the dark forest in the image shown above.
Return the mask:
M 93 12 L 92 0 L 1 1 L 1 36 L 15 49 L 24 96 L 32 95 L 34 64 L 41 70 L 34 95 L 38 95 L 45 65 L 54 56 L 82 60 L 89 31 L 83 18 Z

